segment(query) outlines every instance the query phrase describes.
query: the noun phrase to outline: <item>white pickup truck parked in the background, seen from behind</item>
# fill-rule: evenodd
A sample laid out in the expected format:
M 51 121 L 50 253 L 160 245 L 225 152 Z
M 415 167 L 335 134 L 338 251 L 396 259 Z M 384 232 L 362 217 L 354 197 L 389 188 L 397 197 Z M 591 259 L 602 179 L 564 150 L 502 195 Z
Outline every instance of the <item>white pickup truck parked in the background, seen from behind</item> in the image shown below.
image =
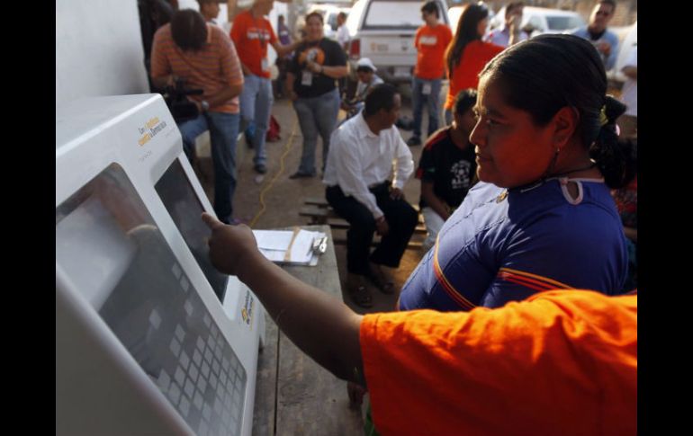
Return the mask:
M 440 22 L 449 25 L 444 0 L 436 0 Z M 358 0 L 347 18 L 351 36 L 349 64 L 356 72 L 359 58 L 370 58 L 378 76 L 392 83 L 410 82 L 417 61 L 414 35 L 421 19 L 421 0 Z

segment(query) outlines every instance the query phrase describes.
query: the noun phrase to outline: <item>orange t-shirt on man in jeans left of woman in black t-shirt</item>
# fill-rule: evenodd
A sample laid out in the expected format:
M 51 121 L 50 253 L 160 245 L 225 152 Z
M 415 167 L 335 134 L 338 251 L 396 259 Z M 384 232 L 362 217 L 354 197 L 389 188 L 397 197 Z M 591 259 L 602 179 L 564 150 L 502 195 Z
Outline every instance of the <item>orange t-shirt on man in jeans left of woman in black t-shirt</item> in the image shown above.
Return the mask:
M 238 13 L 231 27 L 231 40 L 243 65 L 256 76 L 269 77 L 267 45 L 277 40 L 269 20 L 255 18 L 250 11 Z

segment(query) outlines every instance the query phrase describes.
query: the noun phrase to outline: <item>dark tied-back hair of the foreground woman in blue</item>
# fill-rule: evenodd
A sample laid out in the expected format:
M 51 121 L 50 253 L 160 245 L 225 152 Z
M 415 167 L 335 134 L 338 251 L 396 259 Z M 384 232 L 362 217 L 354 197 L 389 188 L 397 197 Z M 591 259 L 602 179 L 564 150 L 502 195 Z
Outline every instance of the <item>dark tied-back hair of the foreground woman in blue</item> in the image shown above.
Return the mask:
M 479 76 L 500 85 L 505 102 L 529 112 L 539 126 L 563 107 L 574 108 L 579 115 L 575 135 L 590 150 L 607 185 L 619 188 L 629 182 L 616 131 L 626 105 L 606 95 L 604 64 L 590 41 L 539 35 L 500 52 Z

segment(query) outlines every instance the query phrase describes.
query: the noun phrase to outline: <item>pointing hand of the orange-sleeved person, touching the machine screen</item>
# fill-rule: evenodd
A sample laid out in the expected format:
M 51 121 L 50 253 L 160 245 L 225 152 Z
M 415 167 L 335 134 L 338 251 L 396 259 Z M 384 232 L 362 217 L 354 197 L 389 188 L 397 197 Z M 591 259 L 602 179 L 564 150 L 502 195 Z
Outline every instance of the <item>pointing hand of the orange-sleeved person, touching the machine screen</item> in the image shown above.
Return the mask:
M 250 227 L 245 224 L 227 226 L 210 214 L 202 213 L 202 221 L 211 228 L 208 242 L 210 260 L 214 268 L 226 274 L 238 275 L 243 264 L 252 262 L 257 255 L 257 242 Z

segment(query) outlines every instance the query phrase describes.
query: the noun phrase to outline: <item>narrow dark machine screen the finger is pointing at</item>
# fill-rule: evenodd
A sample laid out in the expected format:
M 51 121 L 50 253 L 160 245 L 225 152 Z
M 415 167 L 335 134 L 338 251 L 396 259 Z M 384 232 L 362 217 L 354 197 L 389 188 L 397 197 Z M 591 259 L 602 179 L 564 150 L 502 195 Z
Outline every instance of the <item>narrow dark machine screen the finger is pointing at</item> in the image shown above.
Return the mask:
M 185 244 L 209 280 L 214 293 L 223 301 L 229 276 L 220 273 L 211 265 L 207 246 L 207 238 L 211 232 L 200 218 L 203 212 L 202 203 L 193 191 L 193 186 L 178 159 L 166 169 L 166 173 L 154 188 L 173 218 L 175 226 L 183 235 Z

